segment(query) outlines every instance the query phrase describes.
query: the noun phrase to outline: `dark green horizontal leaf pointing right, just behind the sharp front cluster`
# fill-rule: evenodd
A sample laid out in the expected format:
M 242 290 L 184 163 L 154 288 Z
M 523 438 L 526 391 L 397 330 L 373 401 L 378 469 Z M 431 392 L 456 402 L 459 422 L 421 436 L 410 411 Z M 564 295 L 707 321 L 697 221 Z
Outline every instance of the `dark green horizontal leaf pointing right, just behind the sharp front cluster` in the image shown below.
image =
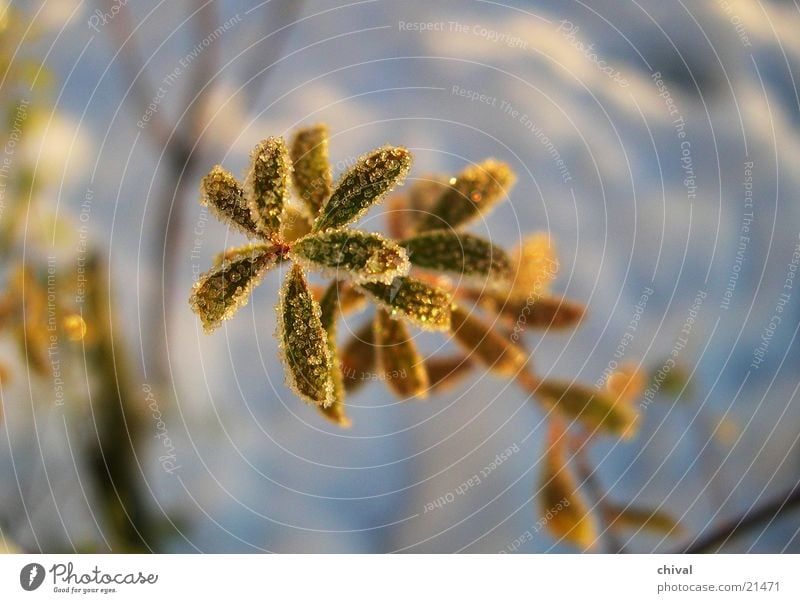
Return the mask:
M 511 259 L 486 239 L 452 230 L 432 230 L 407 239 L 411 263 L 420 268 L 452 272 L 466 277 L 508 280 Z

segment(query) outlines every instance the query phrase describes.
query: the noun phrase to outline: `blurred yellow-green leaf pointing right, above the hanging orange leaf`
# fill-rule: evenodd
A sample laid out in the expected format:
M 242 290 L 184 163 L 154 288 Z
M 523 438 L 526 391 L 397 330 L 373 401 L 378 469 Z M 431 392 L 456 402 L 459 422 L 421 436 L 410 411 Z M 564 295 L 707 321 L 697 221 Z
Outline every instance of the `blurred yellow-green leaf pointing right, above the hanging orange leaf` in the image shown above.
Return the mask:
M 590 429 L 622 437 L 632 437 L 636 432 L 636 411 L 607 392 L 569 381 L 545 380 L 537 384 L 533 393 L 547 407 Z

